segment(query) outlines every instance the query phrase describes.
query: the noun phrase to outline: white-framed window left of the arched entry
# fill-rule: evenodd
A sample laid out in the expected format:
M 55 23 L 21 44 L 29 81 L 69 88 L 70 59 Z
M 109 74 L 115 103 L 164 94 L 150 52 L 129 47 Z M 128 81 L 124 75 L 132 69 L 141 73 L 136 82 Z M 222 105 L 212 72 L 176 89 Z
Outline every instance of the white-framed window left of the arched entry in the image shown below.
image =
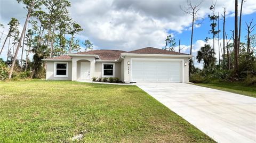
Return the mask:
M 55 62 L 54 77 L 68 77 L 68 62 Z

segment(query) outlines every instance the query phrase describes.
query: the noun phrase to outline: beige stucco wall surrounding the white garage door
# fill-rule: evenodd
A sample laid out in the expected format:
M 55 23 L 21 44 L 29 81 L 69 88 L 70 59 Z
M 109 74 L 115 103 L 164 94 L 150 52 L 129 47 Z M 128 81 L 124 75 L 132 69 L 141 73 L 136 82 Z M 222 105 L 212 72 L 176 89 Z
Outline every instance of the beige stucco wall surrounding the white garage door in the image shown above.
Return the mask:
M 131 58 L 167 58 L 167 59 L 183 59 L 184 63 L 187 63 L 187 66 L 185 64 L 182 64 L 182 68 L 184 68 L 184 82 L 188 83 L 188 57 L 150 57 L 150 56 L 125 56 L 125 82 L 130 82 L 131 79 L 131 65 L 128 65 L 127 62 L 131 62 Z

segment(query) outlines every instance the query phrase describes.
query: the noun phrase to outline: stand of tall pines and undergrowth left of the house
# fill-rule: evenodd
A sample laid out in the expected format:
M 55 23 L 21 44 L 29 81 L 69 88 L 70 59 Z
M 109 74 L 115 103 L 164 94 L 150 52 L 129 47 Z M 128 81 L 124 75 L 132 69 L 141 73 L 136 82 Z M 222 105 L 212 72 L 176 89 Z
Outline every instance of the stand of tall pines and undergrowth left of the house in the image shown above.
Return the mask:
M 83 29 L 71 18 L 68 12 L 71 4 L 67 0 L 17 2 L 25 5 L 27 16 L 21 33 L 18 19 L 11 18 L 7 24 L 9 31 L 4 35 L 5 40 L 0 51 L 1 57 L 3 49 L 7 47 L 7 60 L 0 60 L 1 65 L 5 66 L 0 67 L 1 70 L 7 69 L 3 72 L 5 74 L 1 75 L 2 79 L 6 79 L 6 74 L 9 79 L 19 77 L 23 72 L 31 78 L 43 78 L 45 63 L 42 59 L 79 52 L 80 41 L 76 37 Z M 3 27 L 2 24 L 1 26 Z M 85 40 L 83 44 L 85 50 L 91 50 L 93 47 L 89 40 Z M 17 59 L 18 53 L 21 54 L 21 59 Z M 32 61 L 28 58 L 30 53 L 33 54 Z

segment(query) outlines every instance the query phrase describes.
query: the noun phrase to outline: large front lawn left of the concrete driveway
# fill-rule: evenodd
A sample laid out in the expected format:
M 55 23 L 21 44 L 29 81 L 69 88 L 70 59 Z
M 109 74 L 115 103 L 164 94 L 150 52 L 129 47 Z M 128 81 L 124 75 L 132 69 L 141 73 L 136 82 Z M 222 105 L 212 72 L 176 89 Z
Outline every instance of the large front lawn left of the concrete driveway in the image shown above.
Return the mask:
M 214 142 L 136 86 L 0 82 L 1 142 Z

